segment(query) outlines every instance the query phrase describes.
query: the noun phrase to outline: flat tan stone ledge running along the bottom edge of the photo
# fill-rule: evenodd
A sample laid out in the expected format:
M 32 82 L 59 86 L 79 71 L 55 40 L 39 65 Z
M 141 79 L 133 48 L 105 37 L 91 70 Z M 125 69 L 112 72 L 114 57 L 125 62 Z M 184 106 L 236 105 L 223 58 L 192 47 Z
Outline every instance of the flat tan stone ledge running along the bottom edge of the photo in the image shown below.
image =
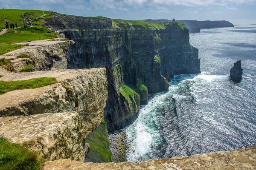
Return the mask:
M 256 147 L 154 159 L 146 162 L 82 163 L 60 159 L 45 163 L 44 170 L 255 170 Z

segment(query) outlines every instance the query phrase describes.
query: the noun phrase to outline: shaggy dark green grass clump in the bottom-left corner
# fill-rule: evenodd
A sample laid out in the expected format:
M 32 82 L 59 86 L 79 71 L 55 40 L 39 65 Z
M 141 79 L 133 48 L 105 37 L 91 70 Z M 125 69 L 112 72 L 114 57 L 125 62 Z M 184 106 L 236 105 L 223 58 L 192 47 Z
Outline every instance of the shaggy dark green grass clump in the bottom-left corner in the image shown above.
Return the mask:
M 38 170 L 40 167 L 38 153 L 0 137 L 0 170 Z

